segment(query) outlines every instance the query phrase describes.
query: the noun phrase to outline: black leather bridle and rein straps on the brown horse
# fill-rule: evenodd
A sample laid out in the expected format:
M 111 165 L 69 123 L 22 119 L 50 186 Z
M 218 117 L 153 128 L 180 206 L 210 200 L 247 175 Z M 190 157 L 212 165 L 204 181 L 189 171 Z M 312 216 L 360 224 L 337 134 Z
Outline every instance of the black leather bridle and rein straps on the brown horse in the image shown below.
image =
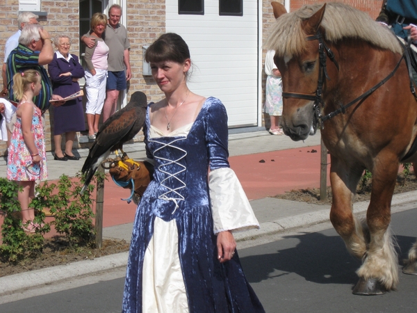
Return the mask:
M 363 93 L 362 95 L 360 95 L 356 99 L 353 99 L 351 102 L 349 102 L 346 105 L 341 104 L 340 108 L 336 109 L 335 111 L 327 115 L 322 115 L 321 110 L 320 110 L 320 104 L 321 104 L 322 109 L 325 108 L 325 102 L 323 101 L 323 98 L 322 98 L 322 88 L 323 88 L 325 78 L 330 80 L 329 74 L 327 74 L 327 67 L 326 67 L 327 56 L 329 56 L 330 60 L 334 63 L 334 65 L 336 65 L 337 70 L 339 70 L 339 66 L 338 66 L 336 59 L 334 58 L 333 51 L 329 47 L 327 47 L 327 45 L 325 44 L 325 41 L 322 38 L 322 34 L 320 33 L 320 30 L 317 31 L 316 35 L 307 36 L 306 40 L 308 41 L 318 40 L 319 68 L 318 68 L 318 81 L 317 81 L 316 95 L 311 95 L 311 94 L 306 94 L 306 93 L 282 93 L 282 97 L 311 100 L 314 102 L 313 111 L 314 111 L 314 120 L 316 122 L 314 123 L 313 127 L 315 131 L 317 128 L 317 122 L 320 121 L 320 127 L 321 129 L 324 129 L 323 122 L 325 122 L 325 120 L 334 118 L 334 116 L 340 113 L 343 113 L 343 114 L 346 113 L 346 109 L 348 107 L 352 106 L 353 104 L 360 101 L 361 99 L 367 97 L 368 95 L 373 93 L 375 90 L 377 90 L 379 87 L 384 85 L 386 81 L 388 81 L 389 79 L 391 79 L 391 77 L 393 77 L 395 72 L 398 70 L 398 67 L 400 67 L 402 58 L 404 58 L 404 54 L 403 54 L 400 60 L 398 61 L 397 65 L 395 65 L 394 70 L 387 77 L 385 77 L 382 81 L 379 81 L 379 83 L 373 86 L 373 88 L 370 88 L 368 91 L 366 91 L 366 93 Z

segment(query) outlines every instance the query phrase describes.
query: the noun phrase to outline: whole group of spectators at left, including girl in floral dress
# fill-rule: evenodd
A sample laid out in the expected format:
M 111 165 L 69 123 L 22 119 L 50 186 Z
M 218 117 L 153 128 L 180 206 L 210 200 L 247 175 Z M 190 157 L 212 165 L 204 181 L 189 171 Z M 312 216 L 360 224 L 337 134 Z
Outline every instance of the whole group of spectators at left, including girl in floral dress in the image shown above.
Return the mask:
M 126 81 L 131 78 L 129 40 L 126 29 L 120 24 L 122 8 L 113 5 L 108 12 L 110 19 L 103 13 L 95 13 L 90 32 L 83 35 L 87 46 L 85 68 L 79 56 L 70 53 L 72 38 L 58 33 L 52 40 L 51 34 L 38 23 L 38 15 L 30 12 L 19 14 L 19 29 L 6 42 L 0 93 L 0 140 L 7 141 L 8 179 L 22 186 L 18 200 L 22 205 L 25 232 L 35 232 L 35 228 L 40 227 L 33 224 L 33 211 L 28 204 L 34 196 L 35 181 L 47 177 L 44 113 L 51 106 L 54 160 L 79 160 L 72 152 L 76 132 L 85 131 L 79 79 L 85 77 L 86 80 L 85 113 L 88 139 L 92 141 L 105 100 L 104 121 L 115 113 L 119 92 L 126 89 Z M 106 87 L 108 70 L 111 70 L 111 77 Z M 77 93 L 79 97 L 64 99 Z

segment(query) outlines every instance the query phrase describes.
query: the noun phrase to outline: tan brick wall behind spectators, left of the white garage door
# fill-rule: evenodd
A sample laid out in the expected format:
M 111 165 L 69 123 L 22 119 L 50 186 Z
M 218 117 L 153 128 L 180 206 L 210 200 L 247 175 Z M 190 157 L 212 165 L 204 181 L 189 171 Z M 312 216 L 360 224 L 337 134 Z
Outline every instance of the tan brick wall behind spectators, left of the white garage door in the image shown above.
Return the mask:
M 17 31 L 17 0 L 0 0 L 0 59 L 4 57 L 6 40 Z M 148 99 L 157 101 L 163 97 L 156 83 L 150 77 L 142 76 L 142 46 L 150 45 L 159 35 L 165 33 L 165 1 L 164 0 L 135 0 L 129 1 L 126 10 L 127 30 L 131 43 L 130 61 L 133 78 L 128 93 L 137 90 L 147 94 Z M 52 38 L 56 33 L 67 33 L 72 38 L 71 51 L 79 54 L 79 0 L 42 1 L 42 12 L 46 17 L 40 17 L 40 24 L 44 26 Z M 1 84 L 3 83 L 0 77 Z M 2 85 L 1 85 L 2 86 Z M 45 141 L 47 150 L 54 149 L 51 134 L 53 118 L 51 110 L 45 113 Z M 138 136 L 137 140 L 141 140 Z M 63 139 L 63 142 L 65 140 Z M 74 142 L 74 147 L 85 147 L 88 144 Z M 0 141 L 0 156 L 6 152 L 6 143 Z

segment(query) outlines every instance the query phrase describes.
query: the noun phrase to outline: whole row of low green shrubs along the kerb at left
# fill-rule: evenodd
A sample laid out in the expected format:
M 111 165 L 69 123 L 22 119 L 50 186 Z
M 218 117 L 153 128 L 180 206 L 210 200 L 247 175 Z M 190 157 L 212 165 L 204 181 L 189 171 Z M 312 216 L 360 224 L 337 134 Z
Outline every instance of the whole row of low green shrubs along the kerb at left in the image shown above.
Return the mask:
M 44 182 L 35 187 L 35 198 L 30 207 L 35 210 L 33 223 L 40 225 L 35 233 L 26 234 L 22 229 L 21 207 L 17 200 L 19 186 L 15 182 L 0 178 L 0 214 L 4 214 L 1 226 L 3 243 L 0 257 L 6 262 L 16 263 L 27 257 L 38 257 L 44 246 L 44 234 L 54 225 L 58 234 L 63 234 L 71 248 L 92 247 L 95 244 L 95 227 L 92 223 L 91 193 L 95 186 L 90 184 L 80 195 L 84 180 L 70 179 L 62 175 L 57 184 Z M 104 183 L 105 175 L 95 175 L 95 180 Z M 44 223 L 43 209 L 55 216 L 51 223 Z

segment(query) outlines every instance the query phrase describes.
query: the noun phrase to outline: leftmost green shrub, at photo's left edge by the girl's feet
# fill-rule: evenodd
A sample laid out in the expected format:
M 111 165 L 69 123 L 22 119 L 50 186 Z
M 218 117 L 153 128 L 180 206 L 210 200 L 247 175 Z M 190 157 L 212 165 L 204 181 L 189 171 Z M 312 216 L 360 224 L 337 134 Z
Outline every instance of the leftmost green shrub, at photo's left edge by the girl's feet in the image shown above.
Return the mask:
M 17 200 L 18 191 L 19 186 L 15 182 L 0 178 L 0 210 L 4 214 L 1 226 L 3 243 L 0 246 L 0 256 L 1 259 L 10 263 L 40 255 L 44 244 L 42 234 L 47 228 L 39 227 L 34 234 L 30 235 L 24 232 L 20 218 L 21 207 Z M 35 218 L 34 222 L 38 223 L 39 220 Z

